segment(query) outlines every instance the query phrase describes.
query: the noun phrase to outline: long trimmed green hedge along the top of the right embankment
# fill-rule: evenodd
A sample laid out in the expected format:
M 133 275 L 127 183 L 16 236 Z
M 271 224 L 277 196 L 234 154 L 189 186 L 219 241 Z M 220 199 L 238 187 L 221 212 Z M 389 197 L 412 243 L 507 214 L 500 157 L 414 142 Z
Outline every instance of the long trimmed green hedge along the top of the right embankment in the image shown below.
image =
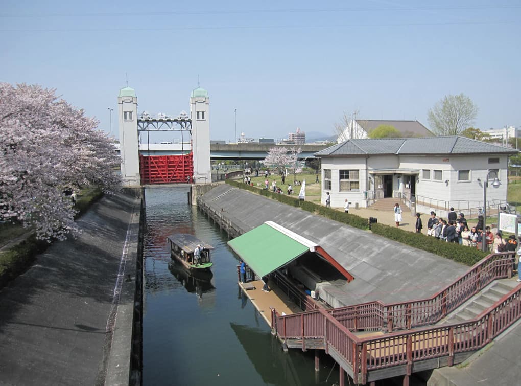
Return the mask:
M 328 219 L 348 224 L 359 229 L 366 230 L 369 228 L 369 220 L 364 219 L 361 216 L 357 216 L 356 214 L 347 214 L 338 210 L 326 208 L 314 202 L 300 201 L 299 199 L 288 195 L 281 195 L 269 190 L 259 189 L 231 179 L 227 179 L 226 183 L 238 187 L 239 189 L 250 190 L 262 196 L 274 198 L 293 207 L 300 207 L 308 212 L 319 214 Z M 404 231 L 403 229 L 389 225 L 378 223 L 371 224 L 371 231 L 379 236 L 395 240 L 399 243 L 409 245 L 414 248 L 431 252 L 433 254 L 466 264 L 467 266 L 473 266 L 483 257 L 488 255 L 487 252 L 480 251 L 476 248 L 465 247 L 455 243 L 444 243 L 435 237 Z

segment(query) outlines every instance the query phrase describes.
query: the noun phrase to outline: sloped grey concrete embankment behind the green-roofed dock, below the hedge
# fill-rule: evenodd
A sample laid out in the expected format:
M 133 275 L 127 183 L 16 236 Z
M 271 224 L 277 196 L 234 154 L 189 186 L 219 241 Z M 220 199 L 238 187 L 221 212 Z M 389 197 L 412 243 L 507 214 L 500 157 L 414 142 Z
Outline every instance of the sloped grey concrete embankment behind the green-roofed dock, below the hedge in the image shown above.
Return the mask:
M 348 284 L 331 282 L 320 287 L 320 298 L 333 307 L 428 297 L 468 269 L 452 260 L 230 185 L 218 185 L 198 196 L 197 206 L 231 237 L 270 220 L 320 245 L 355 278 Z

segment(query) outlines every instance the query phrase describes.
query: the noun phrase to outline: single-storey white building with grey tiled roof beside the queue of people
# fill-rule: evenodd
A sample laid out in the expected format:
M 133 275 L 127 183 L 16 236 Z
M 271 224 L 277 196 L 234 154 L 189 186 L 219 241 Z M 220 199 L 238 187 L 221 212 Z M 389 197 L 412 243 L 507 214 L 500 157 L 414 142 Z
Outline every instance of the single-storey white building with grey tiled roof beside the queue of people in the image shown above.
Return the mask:
M 483 181 L 498 176 L 501 186 L 489 187 L 487 201 L 505 202 L 508 155 L 517 153 L 494 144 L 460 136 L 353 139 L 315 153 L 322 162 L 322 203 L 367 207 L 375 200 L 400 197 L 417 210 L 477 208 L 483 204 Z M 419 203 L 427 203 L 419 208 Z

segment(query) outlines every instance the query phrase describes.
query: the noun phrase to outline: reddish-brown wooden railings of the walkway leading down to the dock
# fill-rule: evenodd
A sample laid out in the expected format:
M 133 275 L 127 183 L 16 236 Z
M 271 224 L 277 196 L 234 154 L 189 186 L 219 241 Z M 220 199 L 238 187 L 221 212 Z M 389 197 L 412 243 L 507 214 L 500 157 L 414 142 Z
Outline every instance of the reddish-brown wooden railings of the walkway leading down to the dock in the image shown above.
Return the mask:
M 447 357 L 451 366 L 454 354 L 483 347 L 521 317 L 521 287 L 473 320 L 423 326 L 436 323 L 493 280 L 511 277 L 512 258 L 511 252 L 489 255 L 429 299 L 390 305 L 376 301 L 288 316 L 274 309 L 272 329 L 283 340 L 302 340 L 303 349 L 306 339 L 324 339 L 326 352 L 333 348 L 358 383 L 366 382 L 368 371 L 398 365 L 406 366 L 410 375 L 419 360 Z M 351 331 L 383 328 L 389 333 L 366 338 Z M 403 328 L 407 331 L 392 332 Z

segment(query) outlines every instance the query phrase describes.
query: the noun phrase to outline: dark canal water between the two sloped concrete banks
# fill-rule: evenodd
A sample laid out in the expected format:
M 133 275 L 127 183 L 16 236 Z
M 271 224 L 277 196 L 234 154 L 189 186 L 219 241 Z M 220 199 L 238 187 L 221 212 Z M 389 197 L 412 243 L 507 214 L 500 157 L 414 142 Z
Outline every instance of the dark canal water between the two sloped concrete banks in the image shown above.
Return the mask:
M 237 285 L 238 258 L 226 232 L 187 203 L 188 187 L 146 189 L 143 384 L 334 385 L 339 369 L 313 350 L 281 350 Z M 213 278 L 172 264 L 166 237 L 191 233 L 213 245 Z

